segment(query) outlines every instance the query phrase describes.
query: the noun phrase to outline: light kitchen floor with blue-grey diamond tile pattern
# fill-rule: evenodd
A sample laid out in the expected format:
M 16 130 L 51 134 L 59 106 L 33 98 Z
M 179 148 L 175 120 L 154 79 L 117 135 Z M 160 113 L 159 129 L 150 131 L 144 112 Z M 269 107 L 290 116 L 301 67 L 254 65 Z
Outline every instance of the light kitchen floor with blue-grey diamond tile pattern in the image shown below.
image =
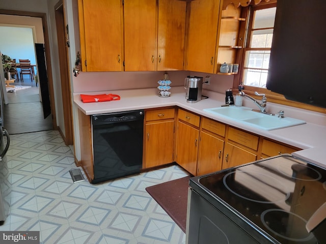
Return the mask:
M 145 188 L 188 175 L 177 165 L 92 185 L 73 183 L 74 156 L 58 131 L 11 135 L 10 211 L 0 231 L 40 231 L 40 243 L 185 243 Z

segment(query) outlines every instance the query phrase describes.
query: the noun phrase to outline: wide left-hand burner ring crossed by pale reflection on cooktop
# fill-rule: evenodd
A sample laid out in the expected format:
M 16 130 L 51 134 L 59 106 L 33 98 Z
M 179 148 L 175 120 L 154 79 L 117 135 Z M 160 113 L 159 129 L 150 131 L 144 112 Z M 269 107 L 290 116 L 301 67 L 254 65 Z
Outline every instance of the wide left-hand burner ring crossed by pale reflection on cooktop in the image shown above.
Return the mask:
M 290 193 L 286 191 L 280 181 L 264 173 L 237 170 L 227 173 L 223 177 L 223 183 L 236 196 L 253 202 L 285 202 L 290 197 Z M 239 188 L 239 184 L 243 187 Z M 238 193 L 238 190 L 241 192 Z M 269 192 L 268 198 L 266 198 L 266 192 Z

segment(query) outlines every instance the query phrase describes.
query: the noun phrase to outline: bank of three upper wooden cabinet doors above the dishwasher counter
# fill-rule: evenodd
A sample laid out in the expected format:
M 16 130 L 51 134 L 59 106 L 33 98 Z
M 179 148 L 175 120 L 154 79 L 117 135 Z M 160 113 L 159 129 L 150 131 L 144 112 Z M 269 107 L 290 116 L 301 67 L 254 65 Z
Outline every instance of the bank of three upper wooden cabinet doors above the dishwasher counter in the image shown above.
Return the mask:
M 183 70 L 186 2 L 78 0 L 78 15 L 83 71 Z

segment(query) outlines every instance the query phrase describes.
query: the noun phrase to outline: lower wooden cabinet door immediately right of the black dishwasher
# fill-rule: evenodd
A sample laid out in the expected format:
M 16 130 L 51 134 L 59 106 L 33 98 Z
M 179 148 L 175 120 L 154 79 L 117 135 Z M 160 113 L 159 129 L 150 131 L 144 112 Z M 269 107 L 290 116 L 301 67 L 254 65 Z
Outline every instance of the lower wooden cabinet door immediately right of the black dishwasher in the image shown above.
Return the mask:
M 172 163 L 174 121 L 145 126 L 145 168 Z

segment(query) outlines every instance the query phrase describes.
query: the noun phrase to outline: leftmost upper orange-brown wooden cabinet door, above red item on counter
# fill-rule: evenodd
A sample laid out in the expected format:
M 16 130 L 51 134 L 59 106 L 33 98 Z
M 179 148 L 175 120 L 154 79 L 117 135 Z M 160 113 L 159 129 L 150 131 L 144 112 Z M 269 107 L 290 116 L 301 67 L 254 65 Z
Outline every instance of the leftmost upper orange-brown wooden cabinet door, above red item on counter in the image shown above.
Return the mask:
M 83 71 L 122 71 L 121 0 L 78 0 L 78 10 Z

